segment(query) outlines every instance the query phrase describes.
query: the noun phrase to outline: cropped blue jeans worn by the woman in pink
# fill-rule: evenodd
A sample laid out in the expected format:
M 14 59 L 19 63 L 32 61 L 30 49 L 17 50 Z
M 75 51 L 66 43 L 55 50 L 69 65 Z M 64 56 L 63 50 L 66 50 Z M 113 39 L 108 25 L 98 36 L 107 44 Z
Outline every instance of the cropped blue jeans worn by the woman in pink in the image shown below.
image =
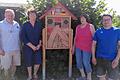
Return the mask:
M 78 69 L 85 69 L 86 73 L 92 72 L 91 53 L 76 48 L 76 66 Z

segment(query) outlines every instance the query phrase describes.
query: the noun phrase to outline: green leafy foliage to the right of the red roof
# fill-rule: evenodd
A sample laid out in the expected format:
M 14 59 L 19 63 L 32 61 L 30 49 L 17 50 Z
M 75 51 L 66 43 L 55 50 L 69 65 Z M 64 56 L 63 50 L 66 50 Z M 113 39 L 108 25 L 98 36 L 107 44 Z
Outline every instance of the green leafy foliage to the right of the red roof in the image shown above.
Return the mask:
M 60 0 L 64 4 L 64 0 Z M 105 0 L 100 0 L 98 4 L 95 0 L 67 0 L 68 1 L 68 8 L 73 12 L 77 17 L 80 14 L 88 14 L 92 24 L 96 28 L 101 26 L 100 24 L 100 16 L 106 12 L 107 4 Z M 66 4 L 66 3 L 65 3 Z M 112 12 L 112 11 L 111 11 Z

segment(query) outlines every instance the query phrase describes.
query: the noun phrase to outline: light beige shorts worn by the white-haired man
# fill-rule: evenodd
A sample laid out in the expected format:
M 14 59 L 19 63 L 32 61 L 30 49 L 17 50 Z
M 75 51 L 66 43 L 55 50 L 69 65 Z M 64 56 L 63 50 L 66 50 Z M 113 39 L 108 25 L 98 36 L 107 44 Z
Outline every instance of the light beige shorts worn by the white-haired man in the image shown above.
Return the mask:
M 1 66 L 3 69 L 8 70 L 12 65 L 21 65 L 21 54 L 20 51 L 12 51 L 10 53 L 5 53 L 1 56 Z

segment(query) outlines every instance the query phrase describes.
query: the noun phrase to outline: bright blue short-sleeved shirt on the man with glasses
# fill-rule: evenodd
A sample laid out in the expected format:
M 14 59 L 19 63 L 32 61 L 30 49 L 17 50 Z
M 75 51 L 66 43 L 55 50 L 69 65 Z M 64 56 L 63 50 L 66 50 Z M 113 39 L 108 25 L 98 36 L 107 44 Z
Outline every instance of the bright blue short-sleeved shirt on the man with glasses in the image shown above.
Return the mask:
M 96 30 L 94 41 L 97 41 L 96 57 L 113 60 L 117 55 L 117 44 L 120 40 L 120 29 L 99 28 Z

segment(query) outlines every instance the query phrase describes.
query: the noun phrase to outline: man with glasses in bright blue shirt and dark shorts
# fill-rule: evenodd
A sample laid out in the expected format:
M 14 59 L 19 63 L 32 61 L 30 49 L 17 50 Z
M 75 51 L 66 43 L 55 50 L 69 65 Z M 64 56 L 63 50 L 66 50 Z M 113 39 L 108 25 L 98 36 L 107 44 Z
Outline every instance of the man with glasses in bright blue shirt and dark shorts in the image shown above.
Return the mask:
M 102 16 L 102 24 L 103 27 L 96 30 L 93 38 L 92 63 L 97 66 L 99 80 L 117 80 L 120 29 L 112 26 L 112 16 L 108 14 Z

